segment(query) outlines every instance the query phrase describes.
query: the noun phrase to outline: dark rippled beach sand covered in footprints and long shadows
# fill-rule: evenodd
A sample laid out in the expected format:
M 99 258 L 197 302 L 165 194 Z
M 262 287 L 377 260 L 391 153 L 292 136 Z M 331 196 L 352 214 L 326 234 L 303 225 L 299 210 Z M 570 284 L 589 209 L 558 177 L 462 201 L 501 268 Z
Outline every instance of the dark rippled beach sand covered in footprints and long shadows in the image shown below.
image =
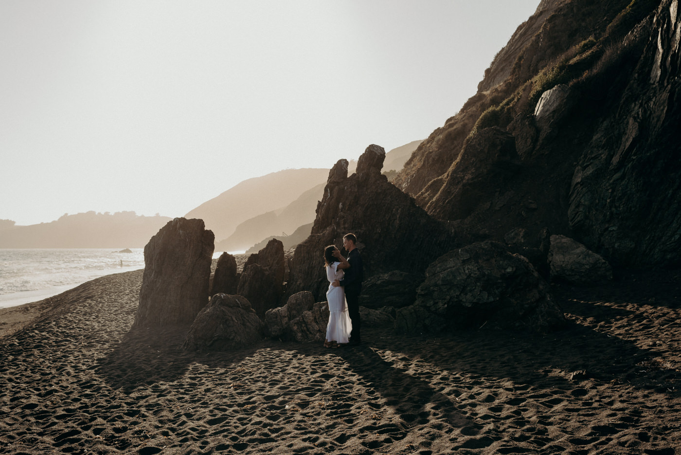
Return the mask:
M 681 454 L 680 276 L 554 285 L 549 335 L 202 354 L 131 330 L 141 270 L 101 277 L 0 311 L 0 453 Z

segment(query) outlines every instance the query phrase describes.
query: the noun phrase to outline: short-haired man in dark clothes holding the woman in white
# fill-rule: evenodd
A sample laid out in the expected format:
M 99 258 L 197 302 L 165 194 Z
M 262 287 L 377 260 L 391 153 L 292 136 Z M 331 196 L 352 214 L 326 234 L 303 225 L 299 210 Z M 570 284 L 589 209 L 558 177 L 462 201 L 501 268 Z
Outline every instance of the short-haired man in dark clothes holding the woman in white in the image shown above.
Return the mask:
M 350 332 L 350 345 L 359 345 L 362 342 L 362 321 L 360 320 L 360 293 L 362 292 L 362 279 L 364 279 L 364 268 L 362 268 L 362 256 L 357 249 L 357 237 L 355 234 L 345 234 L 343 236 L 343 247 L 347 251 L 347 262 L 350 267 L 345 269 L 345 277 L 341 281 L 335 280 L 334 286 L 345 287 L 345 301 L 347 302 L 347 312 L 352 321 L 352 331 Z M 334 255 L 340 255 L 340 251 L 334 251 Z

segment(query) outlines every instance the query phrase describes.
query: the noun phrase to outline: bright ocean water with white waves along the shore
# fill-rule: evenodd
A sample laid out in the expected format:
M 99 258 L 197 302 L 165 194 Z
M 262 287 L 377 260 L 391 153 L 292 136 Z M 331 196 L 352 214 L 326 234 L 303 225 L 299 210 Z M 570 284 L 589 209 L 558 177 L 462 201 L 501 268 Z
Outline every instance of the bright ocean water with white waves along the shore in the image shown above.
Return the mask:
M 36 302 L 97 277 L 144 268 L 144 249 L 0 249 L 0 308 Z

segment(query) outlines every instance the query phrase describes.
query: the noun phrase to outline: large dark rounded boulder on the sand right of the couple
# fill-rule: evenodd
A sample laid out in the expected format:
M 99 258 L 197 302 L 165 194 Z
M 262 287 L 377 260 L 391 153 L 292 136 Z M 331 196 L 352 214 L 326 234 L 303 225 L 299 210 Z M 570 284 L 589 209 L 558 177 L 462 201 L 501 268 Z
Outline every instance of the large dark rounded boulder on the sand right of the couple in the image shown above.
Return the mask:
M 490 241 L 439 257 L 426 270 L 415 304 L 396 312 L 399 332 L 481 326 L 548 332 L 564 322 L 548 284 L 530 262 Z

